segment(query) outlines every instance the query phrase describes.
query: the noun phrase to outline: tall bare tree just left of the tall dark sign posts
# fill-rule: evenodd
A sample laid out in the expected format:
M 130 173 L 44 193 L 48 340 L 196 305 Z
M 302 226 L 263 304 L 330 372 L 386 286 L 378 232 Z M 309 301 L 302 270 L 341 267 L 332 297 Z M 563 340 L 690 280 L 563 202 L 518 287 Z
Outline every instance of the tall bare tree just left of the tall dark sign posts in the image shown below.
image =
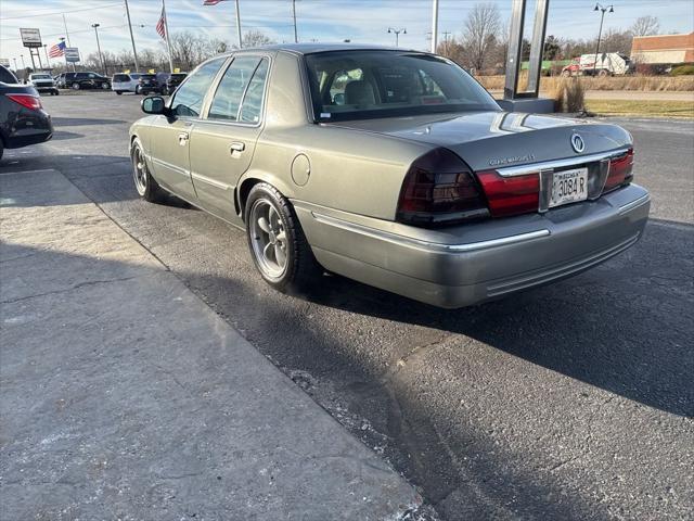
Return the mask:
M 473 7 L 465 21 L 462 40 L 471 67 L 477 71 L 485 67 L 489 52 L 497 45 L 500 27 L 501 16 L 494 3 L 476 3 Z

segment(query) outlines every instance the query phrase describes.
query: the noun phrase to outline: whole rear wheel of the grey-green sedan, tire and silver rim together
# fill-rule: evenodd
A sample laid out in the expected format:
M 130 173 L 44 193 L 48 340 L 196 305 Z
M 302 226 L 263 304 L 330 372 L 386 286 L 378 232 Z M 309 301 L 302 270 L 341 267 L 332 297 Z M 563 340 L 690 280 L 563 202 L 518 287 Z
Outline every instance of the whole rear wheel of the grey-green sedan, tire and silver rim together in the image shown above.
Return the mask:
M 253 262 L 272 288 L 306 292 L 320 275 L 320 266 L 290 202 L 271 185 L 253 187 L 244 220 Z

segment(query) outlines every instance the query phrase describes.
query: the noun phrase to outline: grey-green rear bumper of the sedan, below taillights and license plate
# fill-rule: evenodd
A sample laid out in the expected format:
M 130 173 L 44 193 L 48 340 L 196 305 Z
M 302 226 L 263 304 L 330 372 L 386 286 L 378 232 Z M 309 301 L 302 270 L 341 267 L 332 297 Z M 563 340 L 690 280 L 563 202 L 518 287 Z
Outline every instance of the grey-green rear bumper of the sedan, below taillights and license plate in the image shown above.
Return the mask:
M 545 214 L 413 228 L 295 201 L 326 269 L 440 307 L 462 307 L 576 275 L 634 244 L 650 196 L 631 185 Z

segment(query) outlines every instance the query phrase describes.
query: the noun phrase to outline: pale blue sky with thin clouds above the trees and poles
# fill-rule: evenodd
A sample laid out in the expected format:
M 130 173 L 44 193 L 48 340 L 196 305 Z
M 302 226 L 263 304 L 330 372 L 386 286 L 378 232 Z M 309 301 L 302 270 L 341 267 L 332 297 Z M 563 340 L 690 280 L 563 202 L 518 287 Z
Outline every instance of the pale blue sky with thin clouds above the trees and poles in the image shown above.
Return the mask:
M 454 36 L 462 33 L 470 9 L 478 0 L 440 0 L 439 31 Z M 510 15 L 511 0 L 490 0 L 504 18 Z M 234 2 L 203 7 L 203 0 L 167 0 L 170 30 L 203 31 L 235 42 Z M 293 41 L 291 0 L 240 0 L 244 31 L 257 29 L 277 41 Z M 604 2 L 607 3 L 607 2 Z M 160 0 L 129 0 L 138 47 L 156 48 L 160 39 L 155 31 Z M 528 0 L 529 10 L 535 2 Z M 599 13 L 590 0 L 550 0 L 548 35 L 593 38 L 597 33 Z M 694 1 L 614 0 L 615 13 L 605 16 L 605 29 L 628 28 L 646 14 L 660 20 L 663 33 L 694 30 Z M 70 43 L 83 55 L 97 50 L 91 24 L 99 23 L 103 49 L 119 51 L 130 48 L 123 0 L 0 0 L 0 58 L 28 58 L 22 48 L 20 27 L 37 27 L 49 47 L 65 36 L 65 13 Z M 394 45 L 388 27 L 407 28 L 400 46 L 428 49 L 432 0 L 297 0 L 299 41 L 340 41 Z M 531 16 L 530 16 L 531 18 Z M 144 27 L 141 27 L 141 26 Z

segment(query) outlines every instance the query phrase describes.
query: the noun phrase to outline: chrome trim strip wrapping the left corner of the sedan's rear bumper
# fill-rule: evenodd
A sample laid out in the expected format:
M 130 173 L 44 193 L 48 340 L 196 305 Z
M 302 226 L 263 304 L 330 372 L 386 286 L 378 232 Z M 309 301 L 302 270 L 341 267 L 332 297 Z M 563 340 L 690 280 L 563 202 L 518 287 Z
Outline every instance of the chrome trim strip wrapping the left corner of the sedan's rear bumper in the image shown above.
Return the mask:
M 476 252 L 479 250 L 488 250 L 491 247 L 505 246 L 509 244 L 515 244 L 518 242 L 530 241 L 532 239 L 539 239 L 541 237 L 548 237 L 550 230 L 542 229 L 530 231 L 527 233 L 519 233 L 517 236 L 502 237 L 499 239 L 490 239 L 488 241 L 470 242 L 466 244 L 441 244 L 438 242 L 423 241 L 421 239 L 414 239 L 411 237 L 399 236 L 398 233 L 391 233 L 389 231 L 377 230 L 363 225 L 357 225 L 356 223 L 349 223 L 336 217 L 330 217 L 324 214 L 318 214 L 311 212 L 311 215 L 316 220 L 324 225 L 334 226 L 343 230 L 351 231 L 354 233 L 360 233 L 362 236 L 371 237 L 382 241 L 387 241 L 394 244 L 399 244 L 407 247 L 415 247 L 428 250 L 435 253 L 466 253 Z

